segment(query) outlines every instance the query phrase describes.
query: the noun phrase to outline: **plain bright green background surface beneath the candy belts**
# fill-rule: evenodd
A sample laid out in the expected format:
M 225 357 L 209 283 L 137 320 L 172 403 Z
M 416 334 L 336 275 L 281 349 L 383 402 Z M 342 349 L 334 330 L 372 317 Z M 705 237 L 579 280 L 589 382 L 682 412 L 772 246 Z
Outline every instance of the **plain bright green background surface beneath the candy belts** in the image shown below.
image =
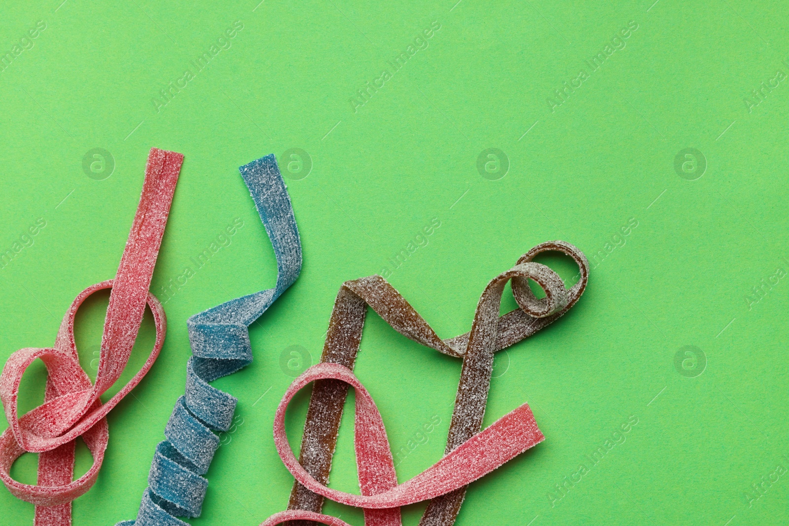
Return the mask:
M 789 521 L 789 477 L 763 493 L 752 487 L 789 468 L 789 83 L 761 84 L 789 73 L 782 2 L 257 2 L 0 8 L 0 54 L 37 21 L 47 24 L 0 73 L 0 251 L 36 219 L 47 222 L 0 270 L 0 360 L 52 345 L 73 297 L 114 276 L 150 147 L 185 155 L 154 293 L 234 218 L 244 222 L 167 301 L 162 354 L 110 413 L 107 457 L 95 487 L 74 502 L 75 526 L 135 517 L 183 393 L 189 315 L 274 284 L 273 251 L 237 166 L 289 148 L 312 162 L 307 177 L 306 165 L 298 173 L 293 164 L 290 176 L 303 178 L 288 181 L 304 267 L 252 326 L 254 363 L 214 384 L 239 398 L 239 424 L 216 454 L 193 524 L 254 525 L 285 509 L 293 479 L 271 427 L 297 371 L 280 367 L 280 357 L 287 362 L 286 349 L 301 345 L 316 362 L 342 282 L 390 267 L 389 281 L 447 338 L 469 330 L 491 278 L 553 239 L 598 256 L 589 286 L 563 319 L 499 355 L 485 416 L 487 425 L 527 401 L 546 440 L 473 483 L 457 524 Z M 157 111 L 159 90 L 236 21 L 243 29 L 229 49 Z M 631 21 L 638 29 L 615 41 L 626 46 L 591 73 L 585 60 Z M 434 22 L 428 47 L 354 112 L 356 91 Z M 589 78 L 558 105 L 555 90 L 581 69 Z M 93 177 L 83 170 L 96 147 L 114 159 L 109 177 L 106 167 Z M 509 163 L 498 180 L 503 164 L 477 170 L 491 147 Z M 705 158 L 702 177 L 701 159 L 675 170 L 688 147 Z M 388 259 L 433 218 L 440 227 L 428 244 L 393 269 Z M 629 221 L 638 226 L 619 235 Z M 567 260 L 544 261 L 572 281 Z M 91 375 L 106 306 L 97 294 L 78 315 Z M 513 306 L 505 298 L 503 310 Z M 147 319 L 124 380 L 152 341 Z M 697 347 L 697 361 L 677 366 L 686 345 Z M 398 479 L 438 460 L 459 360 L 371 313 L 356 371 L 394 450 L 426 440 L 398 464 Z M 43 398 L 44 378 L 41 364 L 26 373 L 21 409 Z M 306 400 L 289 413 L 294 446 Z M 434 416 L 441 423 L 417 438 Z M 638 423 L 625 442 L 552 500 L 555 485 L 589 467 L 587 456 L 628 419 Z M 345 491 L 358 490 L 352 440 L 346 411 L 331 479 Z M 90 462 L 80 446 L 77 470 Z M 13 476 L 32 483 L 35 470 L 26 454 Z M 749 502 L 746 492 L 759 498 Z M 417 524 L 422 509 L 406 507 L 405 524 Z M 359 509 L 328 503 L 324 511 L 363 524 Z M 0 523 L 32 517 L 32 505 L 0 490 Z

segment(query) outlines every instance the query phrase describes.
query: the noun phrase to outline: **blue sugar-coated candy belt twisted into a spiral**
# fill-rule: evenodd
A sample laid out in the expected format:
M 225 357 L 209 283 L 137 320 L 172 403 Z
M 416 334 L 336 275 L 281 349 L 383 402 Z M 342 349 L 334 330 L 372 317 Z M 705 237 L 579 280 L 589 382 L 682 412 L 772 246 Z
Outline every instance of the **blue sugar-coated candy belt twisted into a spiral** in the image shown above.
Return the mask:
M 186 364 L 186 392 L 178 398 L 156 446 L 151 472 L 136 521 L 117 526 L 184 526 L 175 517 L 199 517 L 208 488 L 202 475 L 219 446 L 214 431 L 227 431 L 237 399 L 208 382 L 252 362 L 249 325 L 296 281 L 301 270 L 301 243 L 290 198 L 274 155 L 239 168 L 266 227 L 277 258 L 277 284 L 236 298 L 187 321 L 193 356 Z M 187 525 L 188 526 L 188 525 Z

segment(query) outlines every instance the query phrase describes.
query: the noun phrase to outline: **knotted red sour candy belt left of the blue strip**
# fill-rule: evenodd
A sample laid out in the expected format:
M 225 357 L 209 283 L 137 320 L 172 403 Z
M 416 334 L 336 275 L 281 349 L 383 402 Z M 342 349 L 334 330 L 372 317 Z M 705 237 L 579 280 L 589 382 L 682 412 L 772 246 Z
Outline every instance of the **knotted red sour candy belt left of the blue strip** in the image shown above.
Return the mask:
M 107 413 L 150 370 L 164 343 L 164 310 L 148 287 L 162 242 L 170 203 L 183 155 L 151 148 L 145 167 L 140 204 L 114 279 L 84 289 L 66 311 L 54 347 L 20 349 L 0 375 L 0 398 L 9 428 L 0 435 L 0 479 L 17 498 L 36 505 L 36 526 L 71 524 L 71 501 L 92 487 L 107 448 Z M 74 316 L 80 304 L 97 290 L 112 289 L 99 354 L 95 383 L 80 367 L 74 343 Z M 148 360 L 131 380 L 107 402 L 99 398 L 121 376 L 129 361 L 145 306 L 153 312 L 156 340 Z M 37 358 L 47 366 L 44 403 L 19 418 L 17 397 L 24 371 Z M 75 439 L 82 436 L 93 465 L 73 478 Z M 25 451 L 40 453 L 38 485 L 11 478 L 14 461 Z

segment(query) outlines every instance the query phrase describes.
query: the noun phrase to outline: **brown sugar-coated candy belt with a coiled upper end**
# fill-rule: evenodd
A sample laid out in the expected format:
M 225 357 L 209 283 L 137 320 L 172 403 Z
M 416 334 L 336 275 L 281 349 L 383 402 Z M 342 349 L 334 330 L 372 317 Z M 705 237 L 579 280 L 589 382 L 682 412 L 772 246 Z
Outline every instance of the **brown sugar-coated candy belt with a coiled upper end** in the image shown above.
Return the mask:
M 581 276 L 569 290 L 564 288 L 562 280 L 553 270 L 540 263 L 533 263 L 532 259 L 537 254 L 546 251 L 563 252 L 578 263 Z M 533 279 L 544 289 L 546 293 L 544 298 L 537 300 L 529 289 L 527 278 Z M 471 331 L 447 340 L 440 339 L 424 319 L 417 314 L 417 311 L 414 311 L 411 305 L 380 276 L 346 282 L 342 285 L 335 300 L 335 308 L 331 313 L 321 362 L 340 364 L 348 369 L 353 369 L 361 342 L 361 331 L 365 323 L 367 305 L 372 307 L 394 330 L 407 338 L 432 347 L 440 353 L 461 357 L 463 366 L 447 438 L 446 453 L 450 454 L 481 430 L 494 353 L 514 345 L 559 319 L 581 297 L 588 278 L 589 263 L 578 248 L 564 241 L 549 241 L 539 244 L 518 259 L 515 267 L 499 274 L 488 283 L 477 305 Z M 499 304 L 503 288 L 510 279 L 512 280 L 514 298 L 520 308 L 499 317 Z M 314 479 L 314 483 L 310 483 L 311 485 L 308 486 L 303 475 L 297 475 L 297 470 L 291 469 L 296 477 L 296 482 L 290 493 L 288 509 L 306 510 L 313 515 L 288 512 L 290 518 L 282 520 L 300 519 L 294 521 L 293 525 L 303 526 L 310 524 L 305 520 L 318 520 L 314 514 L 320 515 L 323 497 L 337 500 L 338 495 L 328 494 L 322 488 L 326 485 L 331 471 L 331 457 L 337 443 L 342 406 L 345 403 L 348 383 L 350 382 L 347 379 L 342 382 L 337 379 L 320 379 L 315 382 L 312 388 L 304 435 L 301 438 L 299 462 L 308 475 Z M 391 453 L 387 454 L 391 456 Z M 491 454 L 495 454 L 495 452 L 491 452 Z M 383 469 L 380 468 L 382 465 L 380 459 L 377 462 L 374 466 L 379 467 L 368 468 L 360 465 L 360 478 L 363 473 L 371 469 L 373 471 Z M 320 486 L 316 486 L 315 483 Z M 360 483 L 362 487 L 365 487 L 364 481 L 360 481 Z M 421 526 L 451 526 L 454 524 L 454 519 L 460 511 L 465 495 L 464 483 L 454 491 L 433 498 L 422 517 Z M 354 505 L 362 505 L 365 508 L 374 507 L 363 504 L 362 501 Z M 293 513 L 297 513 L 297 516 Z M 326 522 L 330 518 L 321 517 L 324 518 L 319 521 L 323 521 L 323 524 L 341 524 Z M 367 517 L 368 526 L 375 524 L 369 521 L 366 510 L 365 517 Z M 268 524 L 279 523 L 264 524 L 268 526 Z M 383 522 L 381 524 L 389 523 Z M 395 521 L 391 524 L 399 524 L 399 522 Z

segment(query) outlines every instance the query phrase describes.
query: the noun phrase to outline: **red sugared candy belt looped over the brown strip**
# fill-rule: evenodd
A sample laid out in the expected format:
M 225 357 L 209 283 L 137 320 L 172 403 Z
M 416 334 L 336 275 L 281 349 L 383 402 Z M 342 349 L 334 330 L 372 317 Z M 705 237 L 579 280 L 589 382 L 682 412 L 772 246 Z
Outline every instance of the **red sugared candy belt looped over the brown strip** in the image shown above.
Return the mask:
M 333 490 L 319 483 L 301 467 L 290 450 L 285 433 L 287 405 L 298 390 L 321 379 L 341 380 L 356 390 L 354 445 L 361 495 Z M 524 404 L 463 442 L 431 468 L 398 485 L 386 430 L 375 402 L 350 369 L 331 363 L 314 365 L 299 376 L 282 398 L 274 420 L 275 445 L 288 471 L 310 491 L 335 502 L 365 508 L 365 524 L 368 526 L 372 524 L 366 521 L 368 509 L 397 508 L 449 493 L 492 472 L 543 440 L 531 409 Z M 397 515 L 397 522 L 387 519 L 378 524 L 400 524 L 399 510 Z M 306 516 L 297 518 L 309 519 Z

